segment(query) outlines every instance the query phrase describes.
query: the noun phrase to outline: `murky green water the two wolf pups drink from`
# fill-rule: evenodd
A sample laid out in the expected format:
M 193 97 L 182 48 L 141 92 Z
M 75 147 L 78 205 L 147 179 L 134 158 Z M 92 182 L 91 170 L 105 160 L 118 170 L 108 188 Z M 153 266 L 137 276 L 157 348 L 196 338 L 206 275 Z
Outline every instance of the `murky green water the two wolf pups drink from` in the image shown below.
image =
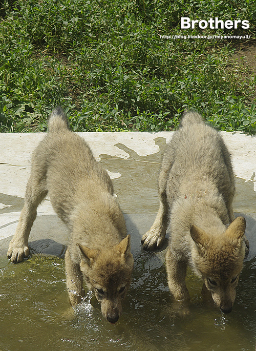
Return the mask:
M 11 264 L 1 257 L 0 263 L 1 350 L 255 349 L 255 260 L 245 264 L 229 315 L 202 301 L 201 282 L 189 274 L 190 315 L 181 318 L 170 307 L 164 265 L 154 254 L 142 252 L 116 325 L 102 318 L 96 299 L 89 303 L 90 296 L 73 316 L 62 258 L 32 256 Z

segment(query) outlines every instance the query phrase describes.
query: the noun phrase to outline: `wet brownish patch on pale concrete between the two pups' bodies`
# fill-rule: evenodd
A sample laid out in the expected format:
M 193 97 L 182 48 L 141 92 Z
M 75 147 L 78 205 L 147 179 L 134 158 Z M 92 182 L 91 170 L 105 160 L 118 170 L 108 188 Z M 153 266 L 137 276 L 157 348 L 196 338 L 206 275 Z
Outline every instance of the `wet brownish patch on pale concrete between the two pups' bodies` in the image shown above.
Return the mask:
M 134 150 L 118 143 L 115 146 L 129 154 L 128 158 L 100 155 L 105 169 L 121 174 L 121 177 L 113 179 L 113 184 L 124 213 L 158 211 L 157 181 L 166 139 L 158 137 L 154 141 L 159 146 L 159 151 L 154 154 L 139 156 Z

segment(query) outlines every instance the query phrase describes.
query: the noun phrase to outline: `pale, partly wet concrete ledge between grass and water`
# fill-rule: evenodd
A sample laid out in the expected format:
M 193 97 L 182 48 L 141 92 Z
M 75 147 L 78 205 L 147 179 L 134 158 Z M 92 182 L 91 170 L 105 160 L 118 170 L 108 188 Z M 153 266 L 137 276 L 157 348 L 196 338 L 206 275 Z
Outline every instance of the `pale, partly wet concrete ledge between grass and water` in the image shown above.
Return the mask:
M 132 251 L 158 211 L 157 178 L 165 144 L 174 132 L 78 133 L 113 179 L 115 193 L 132 235 Z M 236 215 L 247 220 L 248 260 L 256 256 L 256 136 L 221 132 L 236 175 Z M 31 154 L 44 133 L 0 133 L 0 254 L 6 255 L 24 203 Z M 68 233 L 47 198 L 38 207 L 29 244 L 32 253 L 63 256 Z M 159 253 L 161 256 L 161 253 Z

